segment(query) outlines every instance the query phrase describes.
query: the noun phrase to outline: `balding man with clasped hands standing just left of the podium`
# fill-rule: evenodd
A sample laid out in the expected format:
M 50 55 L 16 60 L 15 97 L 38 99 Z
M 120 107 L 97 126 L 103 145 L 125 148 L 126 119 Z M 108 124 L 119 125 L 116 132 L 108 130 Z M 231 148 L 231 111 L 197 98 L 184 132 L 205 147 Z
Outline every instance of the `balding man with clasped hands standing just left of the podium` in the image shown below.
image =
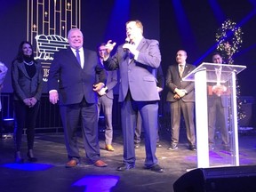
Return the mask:
M 195 84 L 194 82 L 182 81 L 183 76 L 187 76 L 194 68 L 186 62 L 187 52 L 180 50 L 177 52 L 177 64 L 171 65 L 166 74 L 166 86 L 169 89 L 167 93 L 167 101 L 171 102 L 171 132 L 172 142 L 169 150 L 178 148 L 180 137 L 180 117 L 181 112 L 185 121 L 188 148 L 196 150 L 196 134 L 194 123 L 195 108 Z

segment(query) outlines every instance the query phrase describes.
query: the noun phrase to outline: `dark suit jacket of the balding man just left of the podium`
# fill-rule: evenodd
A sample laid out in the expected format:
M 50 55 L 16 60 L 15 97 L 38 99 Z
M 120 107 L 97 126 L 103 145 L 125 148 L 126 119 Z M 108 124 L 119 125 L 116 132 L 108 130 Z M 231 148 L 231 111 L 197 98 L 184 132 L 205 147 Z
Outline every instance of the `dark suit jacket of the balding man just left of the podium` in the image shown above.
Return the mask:
M 184 68 L 183 76 L 187 76 L 188 73 L 190 73 L 194 68 L 196 68 L 193 65 L 190 65 L 186 63 L 186 66 Z M 169 92 L 167 93 L 166 100 L 167 101 L 177 101 L 174 99 L 174 90 L 176 88 L 178 89 L 185 89 L 188 93 L 181 98 L 183 101 L 195 101 L 195 83 L 194 82 L 188 82 L 188 81 L 182 81 L 179 74 L 179 66 L 178 64 L 174 64 L 169 66 L 166 74 L 166 87 L 168 88 Z

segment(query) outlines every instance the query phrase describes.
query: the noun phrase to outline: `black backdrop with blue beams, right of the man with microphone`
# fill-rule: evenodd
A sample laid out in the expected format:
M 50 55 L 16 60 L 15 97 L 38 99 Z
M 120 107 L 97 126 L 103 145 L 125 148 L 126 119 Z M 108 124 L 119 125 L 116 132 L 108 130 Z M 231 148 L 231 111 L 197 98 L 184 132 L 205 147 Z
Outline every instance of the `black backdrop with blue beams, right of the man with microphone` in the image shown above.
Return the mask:
M 164 69 L 175 62 L 175 54 L 179 49 L 188 52 L 189 63 L 199 65 L 211 62 L 211 54 L 215 52 L 215 49 L 211 51 L 216 44 L 215 34 L 227 19 L 236 22 L 244 32 L 242 47 L 234 56 L 235 64 L 247 67 L 237 76 L 241 95 L 255 97 L 255 0 L 161 1 L 160 42 Z

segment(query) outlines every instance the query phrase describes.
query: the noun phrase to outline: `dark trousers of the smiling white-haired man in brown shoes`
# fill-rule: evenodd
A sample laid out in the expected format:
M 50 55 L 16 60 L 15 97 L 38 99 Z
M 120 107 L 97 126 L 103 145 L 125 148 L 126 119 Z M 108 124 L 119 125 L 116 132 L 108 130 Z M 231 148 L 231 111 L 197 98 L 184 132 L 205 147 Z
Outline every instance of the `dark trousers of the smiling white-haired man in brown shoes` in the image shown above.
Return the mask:
M 81 123 L 85 155 L 94 164 L 100 159 L 98 139 L 98 109 L 96 103 L 82 100 L 72 105 L 60 105 L 60 116 L 65 134 L 68 159 L 80 160 L 77 143 L 77 127 Z

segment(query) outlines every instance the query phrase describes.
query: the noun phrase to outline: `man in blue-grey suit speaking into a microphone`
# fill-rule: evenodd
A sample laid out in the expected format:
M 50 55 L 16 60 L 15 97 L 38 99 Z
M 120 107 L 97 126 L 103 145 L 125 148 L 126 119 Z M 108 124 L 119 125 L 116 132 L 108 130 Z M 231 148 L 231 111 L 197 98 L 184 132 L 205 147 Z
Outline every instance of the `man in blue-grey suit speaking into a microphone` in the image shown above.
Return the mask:
M 117 47 L 116 54 L 106 57 L 104 65 L 120 70 L 119 101 L 121 105 L 124 134 L 124 164 L 117 171 L 126 171 L 135 166 L 134 130 L 138 112 L 145 131 L 145 168 L 164 172 L 157 164 L 156 132 L 159 94 L 156 88 L 156 69 L 161 63 L 161 54 L 156 40 L 143 37 L 140 20 L 126 22 L 126 43 Z M 108 54 L 116 43 L 106 44 Z

